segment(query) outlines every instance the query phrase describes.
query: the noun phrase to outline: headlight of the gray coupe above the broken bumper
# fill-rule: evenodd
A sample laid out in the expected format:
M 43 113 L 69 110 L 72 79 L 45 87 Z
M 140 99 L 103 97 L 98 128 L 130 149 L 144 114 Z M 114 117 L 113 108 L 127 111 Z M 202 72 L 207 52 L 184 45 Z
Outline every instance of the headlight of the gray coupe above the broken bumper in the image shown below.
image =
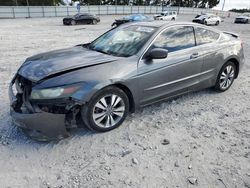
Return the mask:
M 30 98 L 31 99 L 64 98 L 70 96 L 79 88 L 80 88 L 79 85 L 73 85 L 73 86 L 71 85 L 65 87 L 32 90 Z

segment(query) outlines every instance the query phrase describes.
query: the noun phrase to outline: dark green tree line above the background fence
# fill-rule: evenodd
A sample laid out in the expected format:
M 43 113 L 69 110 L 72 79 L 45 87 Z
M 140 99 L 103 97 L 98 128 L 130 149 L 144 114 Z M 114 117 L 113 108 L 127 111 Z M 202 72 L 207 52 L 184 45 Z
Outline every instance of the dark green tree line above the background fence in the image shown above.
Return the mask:
M 220 2 L 220 0 L 72 0 L 72 2 L 76 1 L 81 5 L 171 5 L 194 8 L 212 8 Z M 0 6 L 55 5 L 65 5 L 65 0 L 0 0 Z

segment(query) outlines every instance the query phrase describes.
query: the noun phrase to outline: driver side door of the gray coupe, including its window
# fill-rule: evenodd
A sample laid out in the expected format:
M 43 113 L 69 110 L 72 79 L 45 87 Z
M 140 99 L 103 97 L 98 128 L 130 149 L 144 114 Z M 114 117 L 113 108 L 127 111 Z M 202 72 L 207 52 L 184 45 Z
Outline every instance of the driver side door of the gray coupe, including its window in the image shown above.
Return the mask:
M 148 59 L 138 63 L 140 106 L 189 91 L 198 85 L 203 58 L 196 47 L 192 26 L 175 26 L 160 33 L 148 48 L 168 50 L 165 59 Z

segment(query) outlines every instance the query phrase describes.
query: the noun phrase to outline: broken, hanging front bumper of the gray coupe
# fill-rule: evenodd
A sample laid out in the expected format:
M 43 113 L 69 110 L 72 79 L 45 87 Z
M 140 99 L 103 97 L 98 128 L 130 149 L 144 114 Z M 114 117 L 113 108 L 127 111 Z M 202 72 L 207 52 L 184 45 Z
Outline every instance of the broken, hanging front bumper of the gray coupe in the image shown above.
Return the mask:
M 13 123 L 22 128 L 30 137 L 39 141 L 62 139 L 70 134 L 66 129 L 65 114 L 16 111 L 17 98 L 14 95 L 13 82 L 9 86 L 10 115 Z

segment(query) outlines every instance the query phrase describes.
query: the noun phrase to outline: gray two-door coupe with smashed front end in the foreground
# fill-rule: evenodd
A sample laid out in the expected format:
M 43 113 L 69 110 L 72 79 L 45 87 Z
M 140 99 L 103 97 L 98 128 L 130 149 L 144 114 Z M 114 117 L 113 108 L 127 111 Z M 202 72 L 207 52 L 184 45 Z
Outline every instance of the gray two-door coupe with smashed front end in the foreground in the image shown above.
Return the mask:
M 109 131 L 140 107 L 228 90 L 243 63 L 233 33 L 194 23 L 124 24 L 91 43 L 27 58 L 10 84 L 11 116 L 39 140 L 81 125 Z

